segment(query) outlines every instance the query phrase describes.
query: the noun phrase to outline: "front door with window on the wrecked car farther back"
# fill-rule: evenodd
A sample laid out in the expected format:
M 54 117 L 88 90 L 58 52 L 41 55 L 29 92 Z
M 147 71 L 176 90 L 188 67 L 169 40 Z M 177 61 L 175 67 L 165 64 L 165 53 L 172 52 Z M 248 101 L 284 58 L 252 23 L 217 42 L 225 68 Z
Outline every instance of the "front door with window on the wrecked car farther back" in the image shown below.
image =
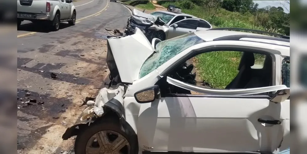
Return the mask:
M 183 19 L 178 22 L 175 22 L 169 26 L 169 31 L 167 35 L 167 39 L 174 38 L 176 36 L 180 36 L 187 33 L 193 33 L 196 31 L 199 19 Z M 177 28 L 174 27 L 177 25 Z

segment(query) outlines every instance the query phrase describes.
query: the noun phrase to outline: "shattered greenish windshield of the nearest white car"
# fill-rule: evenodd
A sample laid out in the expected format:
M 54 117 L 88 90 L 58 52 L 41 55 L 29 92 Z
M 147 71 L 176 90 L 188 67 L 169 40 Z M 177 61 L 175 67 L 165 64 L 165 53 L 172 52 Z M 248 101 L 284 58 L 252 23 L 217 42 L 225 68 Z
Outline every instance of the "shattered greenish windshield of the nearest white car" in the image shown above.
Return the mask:
M 153 53 L 141 67 L 139 78 L 148 75 L 163 63 L 178 55 L 187 48 L 203 43 L 204 40 L 194 33 L 184 34 L 172 39 L 159 42 L 156 46 L 156 53 Z

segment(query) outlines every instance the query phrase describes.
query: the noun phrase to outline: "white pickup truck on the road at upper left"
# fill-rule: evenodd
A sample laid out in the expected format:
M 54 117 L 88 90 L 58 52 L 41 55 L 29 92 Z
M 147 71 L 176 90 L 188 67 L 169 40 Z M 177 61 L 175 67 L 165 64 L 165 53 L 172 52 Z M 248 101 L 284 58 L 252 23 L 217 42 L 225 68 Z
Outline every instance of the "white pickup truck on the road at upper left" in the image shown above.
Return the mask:
M 33 23 L 47 22 L 53 30 L 59 30 L 60 22 L 67 21 L 73 26 L 76 23 L 76 8 L 72 1 L 57 0 L 18 0 L 17 26 L 29 20 Z

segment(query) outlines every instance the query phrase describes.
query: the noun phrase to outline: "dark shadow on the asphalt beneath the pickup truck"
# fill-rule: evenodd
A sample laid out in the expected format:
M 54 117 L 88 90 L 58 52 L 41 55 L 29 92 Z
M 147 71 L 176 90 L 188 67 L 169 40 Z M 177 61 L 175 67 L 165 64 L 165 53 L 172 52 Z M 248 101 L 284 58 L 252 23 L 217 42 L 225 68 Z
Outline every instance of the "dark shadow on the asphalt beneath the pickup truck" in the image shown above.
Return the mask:
M 68 23 L 60 23 L 60 30 L 70 27 Z M 29 31 L 29 32 L 39 32 L 39 33 L 49 33 L 53 30 L 46 23 L 26 23 L 20 25 L 17 30 Z

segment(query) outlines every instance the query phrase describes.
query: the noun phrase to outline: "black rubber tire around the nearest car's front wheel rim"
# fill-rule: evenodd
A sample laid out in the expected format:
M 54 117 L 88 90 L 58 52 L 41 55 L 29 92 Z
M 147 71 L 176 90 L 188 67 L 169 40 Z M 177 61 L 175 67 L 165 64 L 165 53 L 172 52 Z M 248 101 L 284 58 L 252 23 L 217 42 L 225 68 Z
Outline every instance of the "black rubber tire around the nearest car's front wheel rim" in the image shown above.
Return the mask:
M 138 153 L 138 148 L 132 148 L 137 147 L 137 143 L 132 143 L 132 139 L 128 137 L 127 133 L 123 132 L 119 124 L 114 123 L 112 120 L 105 120 L 104 122 L 92 124 L 88 126 L 88 128 L 84 129 L 76 138 L 75 141 L 75 154 L 86 154 L 86 144 L 89 141 L 89 139 L 96 134 L 97 132 L 104 131 L 104 130 L 110 130 L 117 133 L 120 133 L 122 136 L 124 136 L 129 145 L 130 145 L 130 154 Z

